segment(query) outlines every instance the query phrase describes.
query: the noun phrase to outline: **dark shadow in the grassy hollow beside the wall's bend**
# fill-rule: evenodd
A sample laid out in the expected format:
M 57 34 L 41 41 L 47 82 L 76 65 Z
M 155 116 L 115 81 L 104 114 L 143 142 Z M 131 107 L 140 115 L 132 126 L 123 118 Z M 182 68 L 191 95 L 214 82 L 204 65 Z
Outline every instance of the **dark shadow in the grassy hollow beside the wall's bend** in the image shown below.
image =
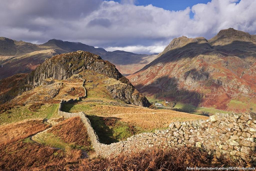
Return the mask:
M 92 128 L 96 132 L 99 137 L 101 143 L 111 144 L 116 143 L 118 140 L 115 140 L 113 137 L 113 130 L 105 124 L 103 120 L 104 117 L 96 116 L 96 115 L 87 115 L 88 119 L 91 122 Z

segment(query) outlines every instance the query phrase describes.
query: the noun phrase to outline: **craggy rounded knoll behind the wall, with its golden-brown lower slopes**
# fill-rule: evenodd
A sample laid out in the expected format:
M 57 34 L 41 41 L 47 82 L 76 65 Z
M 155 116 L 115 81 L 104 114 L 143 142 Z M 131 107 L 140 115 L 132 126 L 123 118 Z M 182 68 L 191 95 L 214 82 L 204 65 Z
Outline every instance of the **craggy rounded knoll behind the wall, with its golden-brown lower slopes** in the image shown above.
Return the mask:
M 63 96 L 58 94 L 63 91 L 62 89 L 68 87 L 68 84 L 75 86 L 77 82 L 83 85 L 83 81 L 88 80 L 89 76 L 89 82 L 93 82 L 90 89 L 95 89 L 98 95 L 104 94 L 104 97 L 119 99 L 127 104 L 151 106 L 144 95 L 134 89 L 112 63 L 102 60 L 99 55 L 85 51 L 56 55 L 45 60 L 31 73 L 16 74 L 0 80 L 0 103 L 61 100 Z M 63 83 L 62 80 L 67 82 Z M 96 80 L 101 82 L 97 83 Z M 80 91 L 77 93 L 80 94 Z M 74 92 L 71 97 L 77 93 Z M 65 94 L 64 99 L 67 98 L 70 99 L 68 94 Z

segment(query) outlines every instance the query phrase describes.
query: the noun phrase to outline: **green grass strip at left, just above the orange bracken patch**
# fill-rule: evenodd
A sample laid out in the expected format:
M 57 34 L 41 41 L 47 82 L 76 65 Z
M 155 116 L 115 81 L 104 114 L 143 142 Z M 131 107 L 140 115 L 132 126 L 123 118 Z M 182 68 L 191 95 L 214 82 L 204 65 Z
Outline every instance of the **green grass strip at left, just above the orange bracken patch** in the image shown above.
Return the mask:
M 30 104 L 13 108 L 0 114 L 0 125 L 19 122 L 26 119 L 50 119 L 51 117 L 58 117 L 59 104 L 44 104 L 37 112 L 28 110 Z

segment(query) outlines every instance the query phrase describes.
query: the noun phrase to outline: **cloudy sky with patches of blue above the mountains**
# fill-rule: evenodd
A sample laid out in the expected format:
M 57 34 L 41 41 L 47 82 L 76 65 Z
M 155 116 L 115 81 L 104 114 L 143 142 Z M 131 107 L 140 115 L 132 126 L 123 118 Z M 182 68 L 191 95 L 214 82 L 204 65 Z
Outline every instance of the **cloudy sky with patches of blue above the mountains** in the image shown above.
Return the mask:
M 0 36 L 153 54 L 180 36 L 210 39 L 230 27 L 256 34 L 255 8 L 255 0 L 1 0 Z

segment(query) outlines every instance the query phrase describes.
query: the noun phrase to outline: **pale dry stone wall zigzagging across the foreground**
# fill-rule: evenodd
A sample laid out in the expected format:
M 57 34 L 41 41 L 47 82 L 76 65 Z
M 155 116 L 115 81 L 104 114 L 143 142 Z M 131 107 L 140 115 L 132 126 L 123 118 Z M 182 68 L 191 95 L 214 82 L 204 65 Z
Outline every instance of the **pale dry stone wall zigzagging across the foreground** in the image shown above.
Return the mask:
M 216 113 L 208 120 L 173 122 L 166 130 L 156 130 L 154 133 L 141 133 L 112 144 L 102 144 L 93 130 L 84 112 L 63 112 L 64 103 L 74 102 L 62 100 L 59 115 L 63 117 L 80 116 L 87 128 L 92 146 L 96 153 L 103 157 L 116 155 L 133 149 L 146 149 L 157 145 L 164 147 L 199 147 L 209 154 L 227 155 L 233 159 L 253 159 L 256 147 L 256 114 L 225 114 Z M 255 165 L 256 163 L 254 163 Z

